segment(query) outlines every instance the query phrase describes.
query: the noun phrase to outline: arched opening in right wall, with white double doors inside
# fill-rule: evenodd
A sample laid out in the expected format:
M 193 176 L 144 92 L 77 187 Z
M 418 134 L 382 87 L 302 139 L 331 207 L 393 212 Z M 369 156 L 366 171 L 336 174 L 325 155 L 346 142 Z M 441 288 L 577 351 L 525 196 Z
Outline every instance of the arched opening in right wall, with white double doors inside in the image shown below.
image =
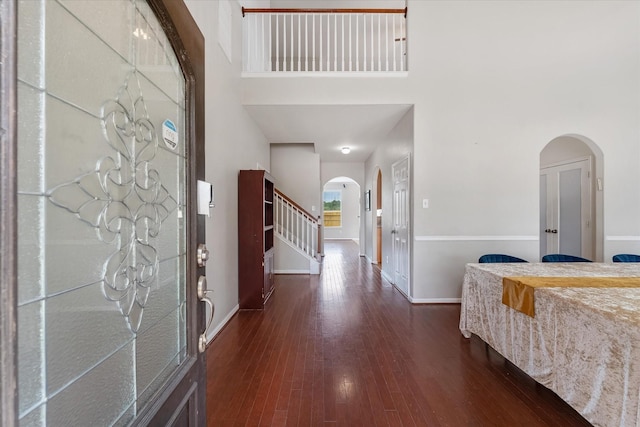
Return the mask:
M 602 259 L 602 152 L 593 141 L 563 135 L 540 152 L 540 256 Z

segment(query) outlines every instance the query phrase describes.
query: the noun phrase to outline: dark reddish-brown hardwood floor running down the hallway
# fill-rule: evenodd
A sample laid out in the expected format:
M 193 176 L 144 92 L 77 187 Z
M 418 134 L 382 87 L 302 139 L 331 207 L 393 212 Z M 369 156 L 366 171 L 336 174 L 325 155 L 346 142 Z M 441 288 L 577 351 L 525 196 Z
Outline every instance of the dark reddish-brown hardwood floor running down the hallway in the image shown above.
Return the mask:
M 327 242 L 320 276 L 277 276 L 265 310 L 240 311 L 209 345 L 208 425 L 590 425 L 462 337 L 459 315 L 410 304 L 353 242 Z

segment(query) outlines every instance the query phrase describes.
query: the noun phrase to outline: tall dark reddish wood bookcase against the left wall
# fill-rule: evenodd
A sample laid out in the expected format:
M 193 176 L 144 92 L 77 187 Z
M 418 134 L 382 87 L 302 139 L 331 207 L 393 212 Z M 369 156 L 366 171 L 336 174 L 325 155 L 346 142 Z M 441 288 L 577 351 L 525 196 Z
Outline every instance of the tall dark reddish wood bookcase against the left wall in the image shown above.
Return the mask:
M 273 292 L 273 178 L 263 170 L 238 175 L 238 299 L 262 309 Z

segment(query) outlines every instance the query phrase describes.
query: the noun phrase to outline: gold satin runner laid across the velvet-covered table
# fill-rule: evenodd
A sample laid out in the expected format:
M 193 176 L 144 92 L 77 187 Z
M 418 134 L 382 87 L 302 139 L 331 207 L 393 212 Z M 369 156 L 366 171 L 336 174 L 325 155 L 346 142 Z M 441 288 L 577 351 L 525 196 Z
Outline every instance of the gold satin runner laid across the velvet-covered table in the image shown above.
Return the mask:
M 502 303 L 535 317 L 535 288 L 637 288 L 640 277 L 503 277 Z

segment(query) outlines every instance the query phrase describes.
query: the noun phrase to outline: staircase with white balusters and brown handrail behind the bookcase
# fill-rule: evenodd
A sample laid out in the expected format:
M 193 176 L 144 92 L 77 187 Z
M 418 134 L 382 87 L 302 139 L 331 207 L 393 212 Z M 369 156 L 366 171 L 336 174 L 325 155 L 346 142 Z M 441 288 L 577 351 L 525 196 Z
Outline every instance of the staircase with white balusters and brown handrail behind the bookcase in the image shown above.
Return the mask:
M 274 273 L 320 274 L 321 225 L 318 218 L 278 189 L 273 203 L 276 237 Z

